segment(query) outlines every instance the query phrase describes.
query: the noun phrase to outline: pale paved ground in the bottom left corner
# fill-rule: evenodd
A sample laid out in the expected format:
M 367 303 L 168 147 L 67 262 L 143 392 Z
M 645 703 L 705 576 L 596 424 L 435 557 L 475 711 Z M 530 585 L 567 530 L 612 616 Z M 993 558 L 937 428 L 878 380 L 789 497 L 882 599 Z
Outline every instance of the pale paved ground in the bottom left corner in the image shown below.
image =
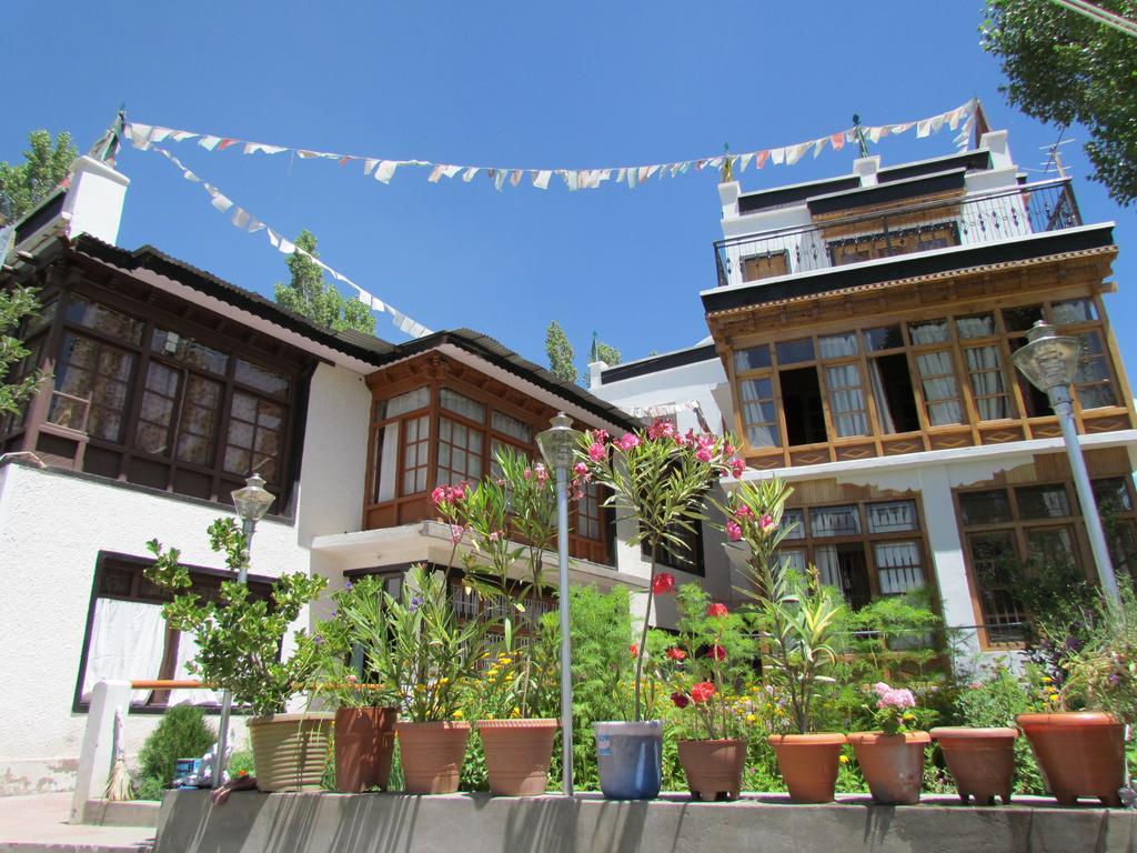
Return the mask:
M 147 827 L 72 826 L 72 795 L 0 797 L 0 853 L 149 853 Z

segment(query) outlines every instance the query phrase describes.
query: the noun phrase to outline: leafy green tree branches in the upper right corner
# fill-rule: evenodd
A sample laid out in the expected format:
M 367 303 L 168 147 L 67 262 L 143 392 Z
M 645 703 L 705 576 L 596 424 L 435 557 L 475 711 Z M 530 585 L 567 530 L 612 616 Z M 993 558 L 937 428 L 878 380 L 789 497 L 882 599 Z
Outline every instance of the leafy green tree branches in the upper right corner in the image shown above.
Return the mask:
M 1137 0 L 1098 0 L 1137 19 Z M 1011 103 L 1089 132 L 1092 179 L 1128 206 L 1137 198 L 1137 39 L 1047 0 L 987 0 L 982 48 L 999 58 Z

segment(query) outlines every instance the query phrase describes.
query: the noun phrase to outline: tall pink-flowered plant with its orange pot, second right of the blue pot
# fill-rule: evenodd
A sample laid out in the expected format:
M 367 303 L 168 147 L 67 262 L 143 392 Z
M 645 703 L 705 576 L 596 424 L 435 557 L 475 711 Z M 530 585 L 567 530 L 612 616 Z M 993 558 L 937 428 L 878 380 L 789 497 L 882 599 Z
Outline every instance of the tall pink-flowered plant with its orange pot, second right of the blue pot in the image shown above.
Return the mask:
M 838 760 L 845 735 L 814 731 L 821 685 L 837 655 L 833 644 L 845 604 L 821 585 L 815 568 L 803 577 L 778 568 L 777 553 L 792 533 L 783 524 L 792 489 L 778 478 L 742 482 L 727 496 L 724 530 L 731 544 L 746 548 L 740 587 L 753 605 L 754 627 L 762 639 L 767 687 L 786 703 L 790 729 L 769 737 L 782 779 L 796 803 L 828 803 L 837 786 Z

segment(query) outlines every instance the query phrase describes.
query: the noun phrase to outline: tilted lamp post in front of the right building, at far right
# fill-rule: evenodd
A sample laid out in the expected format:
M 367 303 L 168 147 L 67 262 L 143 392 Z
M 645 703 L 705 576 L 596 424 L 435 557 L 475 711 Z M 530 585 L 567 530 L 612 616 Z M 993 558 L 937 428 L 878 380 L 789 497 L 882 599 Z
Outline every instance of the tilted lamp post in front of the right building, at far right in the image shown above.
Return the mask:
M 1102 517 L 1097 514 L 1097 502 L 1094 500 L 1094 490 L 1089 485 L 1089 474 L 1086 473 L 1081 446 L 1078 444 L 1073 403 L 1070 398 L 1070 384 L 1078 371 L 1081 342 L 1077 338 L 1055 334 L 1054 328 L 1041 320 L 1027 332 L 1027 345 L 1011 357 L 1015 367 L 1035 388 L 1046 391 L 1054 414 L 1057 415 L 1067 455 L 1070 457 L 1070 470 L 1073 472 L 1073 485 L 1078 490 L 1078 503 L 1086 520 L 1089 546 L 1094 552 L 1094 563 L 1097 565 L 1097 577 L 1101 578 L 1107 599 L 1115 604 L 1118 578 L 1113 573 L 1113 562 L 1105 545 Z

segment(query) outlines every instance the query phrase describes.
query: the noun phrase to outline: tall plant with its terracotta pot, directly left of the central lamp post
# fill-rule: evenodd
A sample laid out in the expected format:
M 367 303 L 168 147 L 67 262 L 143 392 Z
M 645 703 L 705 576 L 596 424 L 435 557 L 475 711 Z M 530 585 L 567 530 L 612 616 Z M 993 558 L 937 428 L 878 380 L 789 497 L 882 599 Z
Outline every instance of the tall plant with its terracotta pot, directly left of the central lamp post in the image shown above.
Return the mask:
M 556 537 L 556 491 L 545 466 L 532 465 L 508 449 L 496 455 L 499 477 L 488 477 L 473 490 L 441 486 L 434 505 L 460 541 L 464 583 L 489 605 L 488 629 L 500 630 L 500 653 L 481 673 L 470 696 L 474 726 L 482 740 L 490 792 L 503 796 L 543 794 L 553 744 L 554 718 L 532 717 L 539 674 L 531 651 L 540 630 L 538 598 L 545 552 Z M 524 566 L 524 577 L 512 570 Z

